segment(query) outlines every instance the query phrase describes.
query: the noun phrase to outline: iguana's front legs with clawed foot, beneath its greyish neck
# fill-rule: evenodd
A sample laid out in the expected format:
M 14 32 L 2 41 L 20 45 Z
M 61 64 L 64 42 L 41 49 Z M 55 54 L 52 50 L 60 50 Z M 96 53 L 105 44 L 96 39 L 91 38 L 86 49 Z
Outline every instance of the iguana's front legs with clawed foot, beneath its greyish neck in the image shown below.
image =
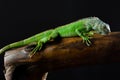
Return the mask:
M 90 46 L 91 41 L 90 38 L 93 35 L 92 32 L 82 32 L 79 29 L 76 29 L 75 32 L 77 33 L 78 36 L 80 36 L 83 39 L 83 42 L 87 44 L 87 46 Z

